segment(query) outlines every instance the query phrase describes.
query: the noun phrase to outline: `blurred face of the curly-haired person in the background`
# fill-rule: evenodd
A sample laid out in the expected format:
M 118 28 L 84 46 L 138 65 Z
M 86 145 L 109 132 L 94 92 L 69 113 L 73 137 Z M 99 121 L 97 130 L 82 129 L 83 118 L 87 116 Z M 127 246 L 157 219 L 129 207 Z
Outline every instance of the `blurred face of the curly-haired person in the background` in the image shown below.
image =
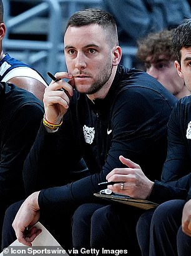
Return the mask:
M 152 56 L 147 57 L 145 62 L 146 71 L 150 76 L 155 77 L 160 84 L 175 96 L 184 87 L 183 79 L 180 79 L 174 66 L 174 61 L 169 61 L 169 56 L 159 55 L 154 62 Z

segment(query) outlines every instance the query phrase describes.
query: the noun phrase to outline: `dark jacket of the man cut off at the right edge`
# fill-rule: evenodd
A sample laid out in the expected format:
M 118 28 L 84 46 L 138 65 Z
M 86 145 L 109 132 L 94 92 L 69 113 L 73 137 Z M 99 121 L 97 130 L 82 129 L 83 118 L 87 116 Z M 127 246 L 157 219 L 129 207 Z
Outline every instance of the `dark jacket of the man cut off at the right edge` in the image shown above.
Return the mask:
M 191 199 L 190 163 L 191 96 L 187 96 L 177 102 L 170 115 L 168 154 L 162 170 L 162 182 L 155 181 L 150 199 L 159 203 L 170 199 Z

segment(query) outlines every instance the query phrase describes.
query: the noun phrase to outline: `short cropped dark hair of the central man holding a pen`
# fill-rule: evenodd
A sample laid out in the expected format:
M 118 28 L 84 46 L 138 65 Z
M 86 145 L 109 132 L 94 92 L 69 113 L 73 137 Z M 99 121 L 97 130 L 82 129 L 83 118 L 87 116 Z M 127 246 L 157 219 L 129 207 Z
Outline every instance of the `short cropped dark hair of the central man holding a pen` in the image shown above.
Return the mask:
M 118 44 L 115 19 L 109 12 L 102 9 L 83 9 L 75 12 L 67 22 L 66 30 L 69 26 L 81 27 L 91 24 L 97 24 L 107 30 L 110 34 L 110 41 Z

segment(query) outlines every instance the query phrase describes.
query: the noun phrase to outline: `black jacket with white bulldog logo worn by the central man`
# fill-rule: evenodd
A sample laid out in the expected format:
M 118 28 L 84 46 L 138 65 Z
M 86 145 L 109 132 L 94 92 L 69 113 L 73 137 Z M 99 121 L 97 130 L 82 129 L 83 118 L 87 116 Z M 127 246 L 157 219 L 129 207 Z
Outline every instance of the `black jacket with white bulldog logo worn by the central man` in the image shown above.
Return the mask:
M 115 167 L 124 167 L 119 155 L 140 164 L 150 179 L 160 179 L 175 102 L 156 79 L 123 66 L 105 99 L 92 102 L 75 91 L 61 129 L 39 129 L 24 167 L 27 193 L 42 189 L 41 210 L 94 202 L 94 192 L 101 189 L 98 183 Z M 90 175 L 71 182 L 72 165 L 81 157 Z

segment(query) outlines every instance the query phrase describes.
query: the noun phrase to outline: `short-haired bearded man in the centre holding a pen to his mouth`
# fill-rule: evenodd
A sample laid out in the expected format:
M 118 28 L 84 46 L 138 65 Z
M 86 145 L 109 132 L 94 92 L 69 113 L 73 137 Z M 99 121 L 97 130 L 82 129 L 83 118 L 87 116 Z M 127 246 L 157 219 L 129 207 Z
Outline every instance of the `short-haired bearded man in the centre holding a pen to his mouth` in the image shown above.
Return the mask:
M 71 222 L 77 221 L 72 215 L 82 204 L 107 204 L 94 193 L 112 169 L 124 166 L 119 155 L 141 164 L 150 179 L 161 174 L 167 122 L 177 99 L 146 72 L 119 64 L 122 51 L 114 18 L 101 9 L 74 13 L 64 34 L 64 54 L 68 72 L 57 72 L 45 90 L 45 116 L 24 164 L 30 195 L 7 209 L 2 248 L 16 237 L 31 246 L 41 230 L 30 227 L 40 220 L 64 249 L 83 254 L 81 245 L 72 245 L 76 234 L 71 234 Z M 90 175 L 71 181 L 69 170 L 81 158 Z M 136 209 L 129 210 L 129 255 L 137 248 L 137 215 Z M 120 249 L 118 244 L 112 247 Z

